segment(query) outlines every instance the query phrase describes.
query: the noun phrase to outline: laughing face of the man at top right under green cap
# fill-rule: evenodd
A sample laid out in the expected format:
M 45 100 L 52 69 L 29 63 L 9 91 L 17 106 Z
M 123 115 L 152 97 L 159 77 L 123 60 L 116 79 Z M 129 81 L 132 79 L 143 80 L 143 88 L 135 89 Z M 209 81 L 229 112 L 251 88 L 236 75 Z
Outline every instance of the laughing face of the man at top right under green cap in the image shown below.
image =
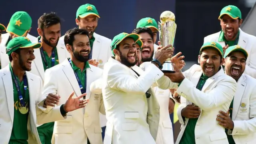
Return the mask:
M 233 41 L 236 39 L 236 36 L 239 31 L 239 26 L 242 24 L 242 19 L 239 21 L 238 19 L 232 19 L 228 15 L 222 16 L 220 19 L 220 25 L 222 31 L 224 32 L 224 37 L 227 41 Z

